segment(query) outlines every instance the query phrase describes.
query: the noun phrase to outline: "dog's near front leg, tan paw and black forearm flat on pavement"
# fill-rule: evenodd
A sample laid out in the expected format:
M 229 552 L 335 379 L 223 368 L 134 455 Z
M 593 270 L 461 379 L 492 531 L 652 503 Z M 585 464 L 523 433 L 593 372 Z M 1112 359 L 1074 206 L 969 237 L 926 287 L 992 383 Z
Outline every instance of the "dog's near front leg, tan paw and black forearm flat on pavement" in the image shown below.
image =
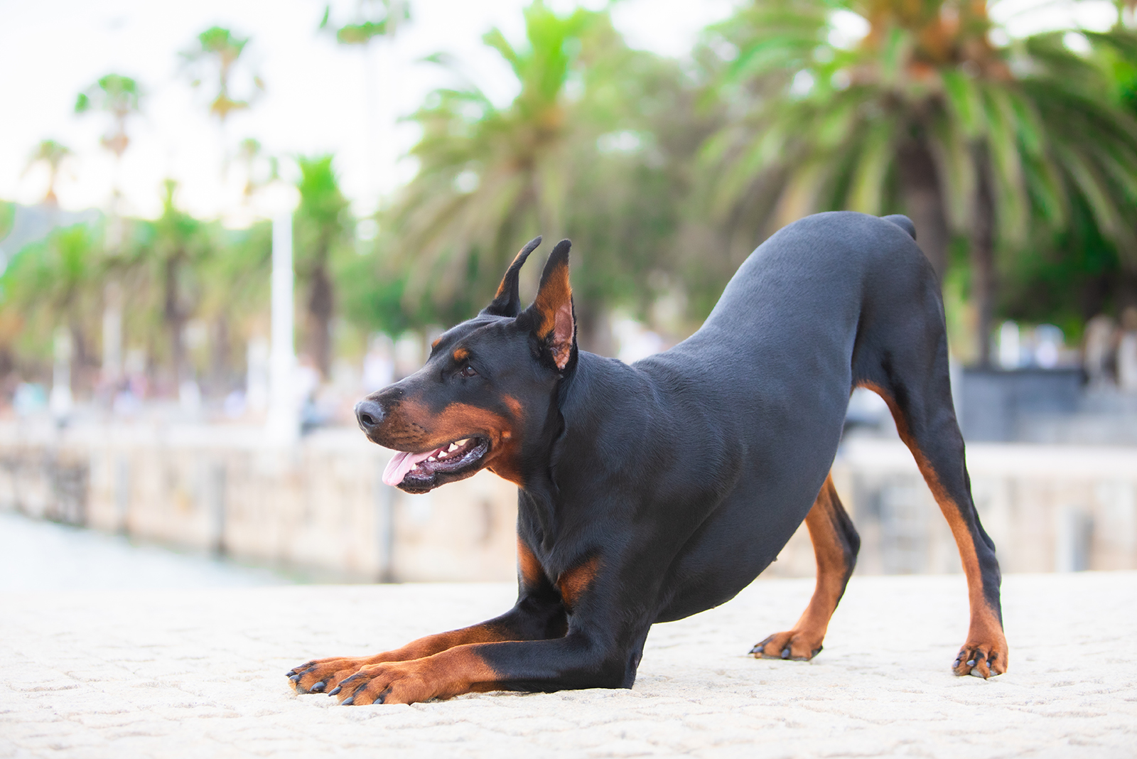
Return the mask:
M 341 683 L 339 699 L 345 704 L 415 703 L 482 691 L 631 687 L 644 637 L 633 653 L 582 632 L 556 640 L 458 645 L 414 661 L 360 667 Z

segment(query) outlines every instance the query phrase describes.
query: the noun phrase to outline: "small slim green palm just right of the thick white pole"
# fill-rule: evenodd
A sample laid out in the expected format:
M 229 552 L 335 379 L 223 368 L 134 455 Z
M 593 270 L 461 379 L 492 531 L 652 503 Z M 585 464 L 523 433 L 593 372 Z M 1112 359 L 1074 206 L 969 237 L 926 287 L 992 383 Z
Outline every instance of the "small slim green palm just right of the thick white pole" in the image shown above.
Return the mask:
M 329 376 L 335 289 L 332 259 L 346 247 L 350 220 L 331 156 L 300 157 L 300 206 L 296 214 L 296 268 L 307 282 L 307 343 L 316 366 Z

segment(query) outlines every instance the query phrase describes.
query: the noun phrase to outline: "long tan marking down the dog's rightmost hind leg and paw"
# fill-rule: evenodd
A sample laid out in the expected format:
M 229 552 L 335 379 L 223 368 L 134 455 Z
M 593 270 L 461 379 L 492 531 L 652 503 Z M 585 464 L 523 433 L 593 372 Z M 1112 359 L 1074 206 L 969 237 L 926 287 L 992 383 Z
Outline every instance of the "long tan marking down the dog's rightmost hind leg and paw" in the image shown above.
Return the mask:
M 964 657 L 969 651 L 979 651 L 984 656 L 980 659 L 971 659 L 976 661 L 976 665 L 968 665 L 966 661 L 969 659 L 961 658 L 960 665 L 953 667 L 953 669 L 957 675 L 965 675 L 973 667 L 984 677 L 987 677 L 990 673 L 996 675 L 1003 674 L 1006 672 L 1007 664 L 1006 636 L 1003 634 L 1003 625 L 999 623 L 998 615 L 987 603 L 987 598 L 984 595 L 984 579 L 982 572 L 979 568 L 979 557 L 976 553 L 976 543 L 971 531 L 963 520 L 962 509 L 947 492 L 947 489 L 944 487 L 936 469 L 932 468 L 931 462 L 928 461 L 928 457 L 912 436 L 907 419 L 904 418 L 904 414 L 901 412 L 891 394 L 875 383 L 863 382 L 861 386 L 877 393 L 888 404 L 888 410 L 891 411 L 893 419 L 896 420 L 896 432 L 899 433 L 901 440 L 912 451 L 912 457 L 916 460 L 916 467 L 919 467 L 920 474 L 923 475 L 924 482 L 928 483 L 928 487 L 931 490 L 936 503 L 939 504 L 939 510 L 944 514 L 944 518 L 947 519 L 947 525 L 952 529 L 952 536 L 955 537 L 955 544 L 960 550 L 960 562 L 963 565 L 963 574 L 968 578 L 968 603 L 971 607 L 968 642 L 963 644 L 960 654 Z M 989 668 L 986 664 L 989 660 L 987 651 L 996 654 L 995 662 Z

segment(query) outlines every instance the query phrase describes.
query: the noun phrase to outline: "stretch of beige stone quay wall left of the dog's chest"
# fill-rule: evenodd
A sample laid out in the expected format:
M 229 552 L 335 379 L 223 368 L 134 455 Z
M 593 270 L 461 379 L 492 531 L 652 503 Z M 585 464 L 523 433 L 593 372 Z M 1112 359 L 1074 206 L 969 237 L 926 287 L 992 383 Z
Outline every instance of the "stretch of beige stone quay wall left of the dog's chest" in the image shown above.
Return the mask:
M 390 454 L 354 429 L 274 447 L 235 426 L 0 425 L 0 509 L 330 577 L 515 576 L 515 487 L 407 495 L 380 479 Z

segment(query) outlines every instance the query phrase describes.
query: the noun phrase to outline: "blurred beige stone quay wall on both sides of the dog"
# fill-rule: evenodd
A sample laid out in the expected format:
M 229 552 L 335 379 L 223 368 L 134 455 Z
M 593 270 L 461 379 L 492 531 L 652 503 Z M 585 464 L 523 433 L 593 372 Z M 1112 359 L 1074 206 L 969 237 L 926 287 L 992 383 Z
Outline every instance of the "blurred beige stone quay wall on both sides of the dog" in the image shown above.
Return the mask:
M 0 424 L 0 509 L 333 578 L 514 577 L 509 483 L 481 473 L 407 495 L 380 479 L 389 457 L 355 429 L 273 447 L 240 426 Z M 1137 449 L 977 443 L 968 460 L 1004 572 L 1137 568 Z M 846 442 L 833 479 L 858 573 L 960 570 L 898 441 Z M 767 574 L 813 574 L 804 527 Z

